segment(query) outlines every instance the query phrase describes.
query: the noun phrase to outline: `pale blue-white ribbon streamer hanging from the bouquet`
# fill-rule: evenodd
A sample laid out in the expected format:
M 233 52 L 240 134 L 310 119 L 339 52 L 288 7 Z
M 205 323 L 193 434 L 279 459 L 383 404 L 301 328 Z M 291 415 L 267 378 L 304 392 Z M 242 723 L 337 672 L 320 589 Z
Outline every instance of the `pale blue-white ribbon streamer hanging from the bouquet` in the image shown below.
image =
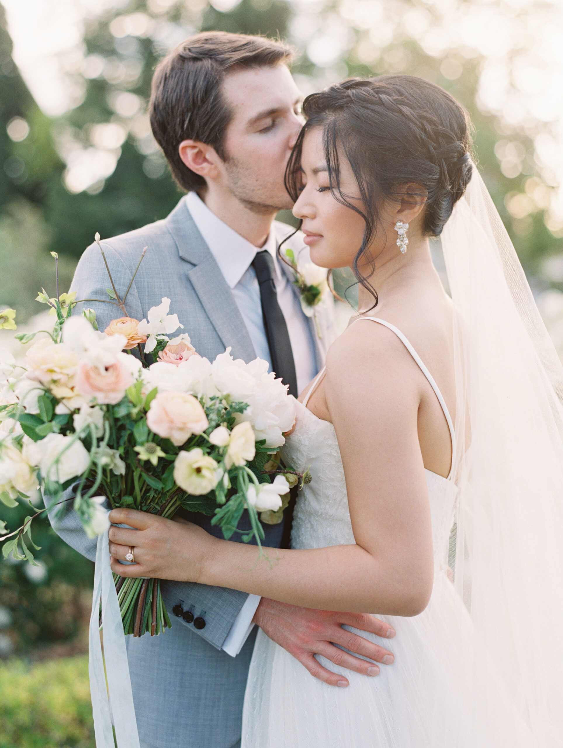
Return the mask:
M 104 655 L 102 655 L 102 645 L 99 640 L 100 601 L 102 603 Z M 114 579 L 111 576 L 108 530 L 103 535 L 98 536 L 92 615 L 90 616 L 88 670 L 90 673 L 96 748 L 115 748 L 111 729 L 112 715 L 117 748 L 140 748 L 123 623 Z M 106 674 L 108 678 L 107 688 L 105 685 Z

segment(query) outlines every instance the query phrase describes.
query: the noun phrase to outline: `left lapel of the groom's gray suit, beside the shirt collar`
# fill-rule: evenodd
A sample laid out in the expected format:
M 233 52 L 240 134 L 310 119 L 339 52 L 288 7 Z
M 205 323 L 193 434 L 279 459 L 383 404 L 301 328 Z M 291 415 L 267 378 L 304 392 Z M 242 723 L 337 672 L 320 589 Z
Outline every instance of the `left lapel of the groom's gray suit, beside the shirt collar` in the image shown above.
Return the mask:
M 180 200 L 166 222 L 180 258 L 192 266 L 188 270 L 189 281 L 221 342 L 225 348 L 233 347 L 233 358 L 252 361 L 256 352 L 239 307 L 215 257 L 197 230 L 185 200 Z

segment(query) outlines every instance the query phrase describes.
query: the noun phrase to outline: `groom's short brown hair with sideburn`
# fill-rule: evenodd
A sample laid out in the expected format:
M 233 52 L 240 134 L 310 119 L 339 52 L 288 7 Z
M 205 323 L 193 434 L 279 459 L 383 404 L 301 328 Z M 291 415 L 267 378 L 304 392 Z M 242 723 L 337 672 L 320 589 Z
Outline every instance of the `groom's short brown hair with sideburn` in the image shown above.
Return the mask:
M 224 161 L 224 139 L 233 116 L 221 91 L 231 70 L 288 64 L 292 49 L 280 40 L 208 31 L 173 49 L 156 68 L 150 97 L 150 125 L 173 177 L 186 191 L 205 186 L 179 157 L 184 140 L 215 148 Z

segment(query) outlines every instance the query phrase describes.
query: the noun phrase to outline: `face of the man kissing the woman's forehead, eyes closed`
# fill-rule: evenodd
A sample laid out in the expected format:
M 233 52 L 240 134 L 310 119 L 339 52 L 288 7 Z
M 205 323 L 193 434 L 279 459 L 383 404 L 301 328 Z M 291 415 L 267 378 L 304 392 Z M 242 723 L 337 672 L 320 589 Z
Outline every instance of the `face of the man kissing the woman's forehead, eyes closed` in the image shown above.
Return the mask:
M 301 93 L 285 65 L 230 73 L 223 95 L 233 111 L 222 164 L 227 188 L 254 212 L 290 209 L 283 175 L 303 124 Z

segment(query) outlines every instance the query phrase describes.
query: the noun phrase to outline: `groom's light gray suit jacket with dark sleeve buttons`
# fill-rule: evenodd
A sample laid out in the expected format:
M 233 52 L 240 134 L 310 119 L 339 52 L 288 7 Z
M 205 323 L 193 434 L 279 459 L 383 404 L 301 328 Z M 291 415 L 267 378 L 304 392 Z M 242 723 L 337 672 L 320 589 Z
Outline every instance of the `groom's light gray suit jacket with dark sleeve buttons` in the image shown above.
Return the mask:
M 291 227 L 277 221 L 274 230 L 278 243 L 292 232 Z M 299 236 L 289 239 L 289 246 L 296 255 L 304 251 L 301 257 L 308 258 Z M 190 335 L 200 355 L 212 361 L 232 346 L 233 358 L 256 358 L 239 308 L 191 218 L 185 198 L 163 221 L 103 241 L 102 247 L 120 298 L 126 293 L 141 251 L 148 248 L 126 298 L 129 316 L 146 318 L 150 307 L 167 296 L 170 313 L 177 313 L 184 325 L 178 332 Z M 287 271 L 293 280 L 291 271 Z M 71 290 L 76 291 L 77 299 L 108 299 L 105 289 L 110 285 L 99 248 L 91 245 L 76 268 Z M 96 311 L 102 331 L 111 319 L 123 316 L 119 307 L 102 301 L 85 301 L 75 313 L 84 307 Z M 333 340 L 332 299 L 317 309 L 321 337 L 316 334 L 313 319 L 310 322 L 320 369 L 326 347 Z M 50 518 L 61 538 L 94 560 L 96 542 L 87 539 L 72 511 L 67 510 L 58 521 Z M 219 534 L 203 515 L 194 515 L 193 519 Z M 279 547 L 282 529 L 281 524 L 264 525 L 265 545 Z M 255 633 L 250 634 L 237 657 L 230 657 L 221 646 L 247 595 L 233 589 L 170 581 L 163 583 L 162 593 L 172 628 L 158 637 L 126 637 L 141 741 L 159 748 L 230 748 L 240 738 Z M 193 613 L 191 623 L 173 616 L 172 608 L 177 604 Z M 195 628 L 195 619 L 197 625 L 203 620 L 204 627 Z

